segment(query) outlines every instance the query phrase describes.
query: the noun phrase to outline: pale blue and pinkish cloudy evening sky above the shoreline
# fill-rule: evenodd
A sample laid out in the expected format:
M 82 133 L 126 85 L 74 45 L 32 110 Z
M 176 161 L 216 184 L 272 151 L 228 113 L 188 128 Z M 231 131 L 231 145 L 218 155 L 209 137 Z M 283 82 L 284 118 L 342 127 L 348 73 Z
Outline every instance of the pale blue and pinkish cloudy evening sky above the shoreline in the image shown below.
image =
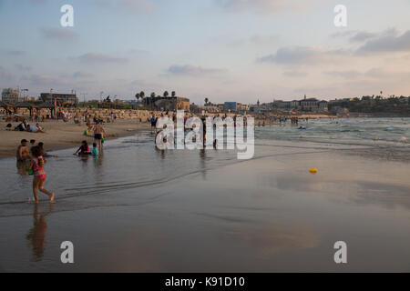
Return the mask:
M 410 95 L 409 11 L 409 0 L 0 0 L 0 88 L 88 100 L 167 90 L 195 104 Z

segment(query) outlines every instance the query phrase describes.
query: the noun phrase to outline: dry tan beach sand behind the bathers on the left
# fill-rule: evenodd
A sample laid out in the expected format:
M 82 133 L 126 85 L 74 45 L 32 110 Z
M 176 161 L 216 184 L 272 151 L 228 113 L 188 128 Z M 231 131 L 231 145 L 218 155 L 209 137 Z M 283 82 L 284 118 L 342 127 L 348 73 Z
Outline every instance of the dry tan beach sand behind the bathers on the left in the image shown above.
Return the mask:
M 13 128 L 19 123 L 13 123 Z M 15 156 L 17 146 L 20 145 L 20 141 L 24 138 L 30 141 L 36 139 L 36 142 L 45 143 L 47 151 L 54 151 L 58 149 L 81 146 L 81 141 L 87 140 L 88 143 L 93 141 L 92 131 L 89 136 L 83 135 L 84 130 L 87 129 L 87 125 L 75 125 L 73 121 L 65 123 L 63 121 L 46 121 L 40 123 L 46 130 L 46 134 L 41 133 L 29 133 L 29 132 L 17 132 L 6 131 L 5 122 L 1 122 L 0 130 L 0 158 Z M 109 123 L 104 125 L 108 132 L 106 139 L 118 138 L 122 136 L 135 135 L 141 130 L 149 129 L 148 123 L 139 123 L 136 119 L 119 119 L 115 123 Z

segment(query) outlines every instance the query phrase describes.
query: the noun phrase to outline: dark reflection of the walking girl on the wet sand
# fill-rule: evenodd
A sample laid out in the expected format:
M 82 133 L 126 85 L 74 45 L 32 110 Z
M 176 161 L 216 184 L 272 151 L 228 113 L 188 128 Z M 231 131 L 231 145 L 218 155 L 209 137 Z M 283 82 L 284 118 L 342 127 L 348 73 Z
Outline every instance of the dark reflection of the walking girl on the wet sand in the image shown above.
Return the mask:
M 26 239 L 32 247 L 33 257 L 30 259 L 31 262 L 39 262 L 43 259 L 46 246 L 46 216 L 53 211 L 53 206 L 54 204 L 50 204 L 48 210 L 40 214 L 38 204 L 34 206 L 33 227 L 26 235 Z

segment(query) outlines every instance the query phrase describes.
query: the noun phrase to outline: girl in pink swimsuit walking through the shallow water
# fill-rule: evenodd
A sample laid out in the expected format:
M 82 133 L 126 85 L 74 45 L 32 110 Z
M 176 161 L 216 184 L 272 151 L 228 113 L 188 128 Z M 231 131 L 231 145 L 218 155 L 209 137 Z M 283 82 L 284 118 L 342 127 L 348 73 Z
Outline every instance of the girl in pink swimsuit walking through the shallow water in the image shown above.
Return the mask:
M 46 190 L 44 187 L 46 184 L 46 172 L 44 170 L 46 160 L 42 156 L 43 151 L 39 146 L 33 146 L 31 149 L 31 155 L 33 156 L 33 160 L 31 161 L 30 166 L 28 166 L 28 170 L 33 170 L 33 196 L 35 202 L 38 203 L 37 189 L 49 196 L 50 202 L 53 202 L 55 194 Z

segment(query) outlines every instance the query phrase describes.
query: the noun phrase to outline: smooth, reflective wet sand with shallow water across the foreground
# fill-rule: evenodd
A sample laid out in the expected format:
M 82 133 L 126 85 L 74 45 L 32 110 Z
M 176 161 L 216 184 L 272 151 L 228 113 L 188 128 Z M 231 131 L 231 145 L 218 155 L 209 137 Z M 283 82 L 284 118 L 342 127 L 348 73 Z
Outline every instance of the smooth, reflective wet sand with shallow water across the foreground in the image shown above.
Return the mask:
M 99 160 L 50 161 L 53 206 L 20 203 L 31 180 L 12 181 L 0 198 L 0 269 L 410 271 L 408 163 L 349 155 L 363 146 L 266 140 L 239 161 L 229 151 L 156 151 L 151 138 L 110 141 Z M 0 162 L 1 176 L 13 163 Z M 60 262 L 66 240 L 72 265 Z M 333 261 L 341 240 L 346 265 Z

